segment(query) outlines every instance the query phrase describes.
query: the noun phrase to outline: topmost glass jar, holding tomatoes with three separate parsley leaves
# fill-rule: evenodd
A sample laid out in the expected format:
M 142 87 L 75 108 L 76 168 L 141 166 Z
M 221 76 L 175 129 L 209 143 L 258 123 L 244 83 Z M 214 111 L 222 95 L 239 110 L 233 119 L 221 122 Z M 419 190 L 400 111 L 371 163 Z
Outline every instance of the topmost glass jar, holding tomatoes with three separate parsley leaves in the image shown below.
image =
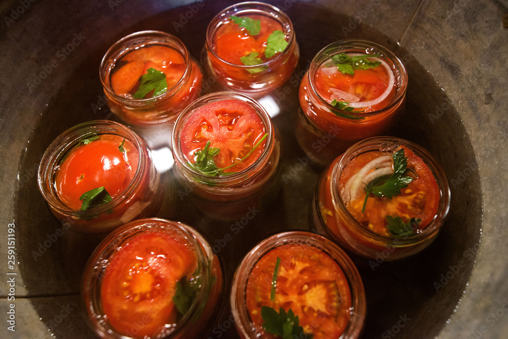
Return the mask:
M 260 20 L 261 29 L 259 32 L 241 29 L 232 16 Z M 262 54 L 267 38 L 276 30 L 281 31 L 287 46 L 267 57 Z M 240 60 L 240 57 L 249 56 L 256 57 L 257 61 Z M 231 90 L 258 97 L 286 82 L 299 56 L 289 17 L 271 5 L 245 2 L 226 8 L 210 21 L 201 63 L 207 76 L 208 91 Z

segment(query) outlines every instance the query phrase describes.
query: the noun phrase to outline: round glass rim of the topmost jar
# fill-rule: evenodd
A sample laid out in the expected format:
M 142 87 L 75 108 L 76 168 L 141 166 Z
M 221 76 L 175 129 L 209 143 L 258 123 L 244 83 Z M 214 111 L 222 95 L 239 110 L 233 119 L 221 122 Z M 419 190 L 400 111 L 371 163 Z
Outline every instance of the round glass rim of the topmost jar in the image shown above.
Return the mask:
M 229 18 L 232 15 L 239 16 L 245 14 L 264 15 L 279 22 L 282 25 L 284 36 L 289 38 L 288 46 L 286 46 L 286 48 L 282 52 L 277 53 L 272 59 L 264 63 L 260 63 L 258 65 L 250 65 L 250 66 L 239 65 L 220 58 L 215 53 L 214 48 L 212 48 L 212 46 L 214 45 L 213 38 L 215 36 L 215 32 L 219 29 L 221 25 L 224 24 L 225 19 Z M 291 48 L 291 46 L 294 44 L 294 41 L 295 41 L 295 31 L 293 29 L 293 23 L 291 22 L 290 18 L 284 12 L 279 10 L 277 7 L 260 2 L 244 2 L 232 5 L 224 9 L 220 13 L 218 13 L 216 16 L 214 16 L 206 29 L 206 49 L 214 56 L 214 58 L 220 60 L 221 63 L 227 65 L 228 67 L 237 67 L 239 70 L 245 71 L 249 70 L 252 71 L 255 69 L 259 69 L 260 67 L 267 67 L 267 71 L 270 71 L 271 66 L 285 60 L 285 53 Z M 264 73 L 265 72 L 258 72 L 253 73 L 253 75 Z

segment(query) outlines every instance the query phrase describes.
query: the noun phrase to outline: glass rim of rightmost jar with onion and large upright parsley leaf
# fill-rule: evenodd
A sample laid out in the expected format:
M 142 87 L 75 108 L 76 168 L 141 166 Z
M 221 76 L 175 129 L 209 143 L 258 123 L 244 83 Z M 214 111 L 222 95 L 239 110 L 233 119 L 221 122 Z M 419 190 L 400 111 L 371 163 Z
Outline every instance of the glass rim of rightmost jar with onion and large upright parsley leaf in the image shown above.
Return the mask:
M 391 237 L 375 233 L 368 227 L 361 225 L 346 208 L 345 201 L 339 192 L 338 184 L 342 170 L 356 156 L 375 150 L 386 152 L 387 154 L 391 155 L 399 146 L 405 146 L 409 148 L 430 168 L 434 179 L 437 182 L 437 186 L 439 187 L 439 205 L 437 207 L 437 213 L 432 221 L 419 232 L 404 237 Z M 331 178 L 332 180 L 330 180 L 330 187 L 327 189 L 331 190 L 333 205 L 345 218 L 348 227 L 352 228 L 355 232 L 360 233 L 365 238 L 371 239 L 374 242 L 380 244 L 392 244 L 394 247 L 405 247 L 414 246 L 425 242 L 433 235 L 436 235 L 437 232 L 439 232 L 441 226 L 448 216 L 448 212 L 450 211 L 450 184 L 446 174 L 444 173 L 444 170 L 439 165 L 437 160 L 427 150 L 425 150 L 420 145 L 417 145 L 408 140 L 404 140 L 402 138 L 373 137 L 356 143 L 355 145 L 348 148 L 346 152 L 341 156 L 339 162 L 332 169 Z

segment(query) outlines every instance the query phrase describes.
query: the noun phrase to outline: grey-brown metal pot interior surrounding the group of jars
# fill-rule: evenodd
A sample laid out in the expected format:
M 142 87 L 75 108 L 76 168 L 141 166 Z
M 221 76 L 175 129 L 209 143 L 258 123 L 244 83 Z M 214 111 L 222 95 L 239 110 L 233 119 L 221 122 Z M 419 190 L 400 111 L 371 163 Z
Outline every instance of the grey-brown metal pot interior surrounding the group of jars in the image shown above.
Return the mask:
M 128 33 L 159 29 L 179 36 L 199 57 L 206 22 L 233 3 L 16 0 L 0 5 L 0 234 L 4 239 L 0 336 L 93 336 L 80 309 L 79 279 L 80 264 L 88 255 L 82 248 L 93 247 L 97 240 L 72 243 L 54 235 L 58 222 L 37 191 L 36 171 L 42 152 L 57 135 L 79 122 L 108 115 L 99 81 L 104 53 Z M 410 79 L 406 113 L 396 133 L 426 147 L 451 180 L 451 215 L 432 248 L 393 267 L 363 270 L 371 300 L 365 337 L 508 337 L 508 262 L 503 259 L 508 248 L 504 227 L 508 221 L 508 4 L 487 0 L 269 3 L 293 20 L 300 70 L 322 47 L 344 38 L 364 38 L 393 49 L 406 63 Z M 290 102 L 297 95 L 293 88 L 284 100 Z M 285 110 L 297 106 L 290 103 Z M 292 141 L 291 115 L 281 114 L 276 120 L 283 137 Z M 291 144 L 283 148 L 286 160 L 281 171 L 289 173 L 303 153 Z M 267 218 L 270 225 L 273 216 L 280 217 L 281 229 L 308 229 L 307 207 L 315 186 L 301 182 L 315 181 L 319 172 L 308 166 L 295 180 L 285 182 L 278 195 L 286 202 L 285 209 L 260 218 Z M 295 191 L 300 193 L 296 198 Z M 211 230 L 215 225 L 205 219 L 195 222 L 202 231 L 210 231 L 212 240 L 224 234 Z M 241 256 L 270 232 L 273 229 L 261 228 L 250 241 L 225 248 L 226 277 L 233 274 Z M 11 238 L 15 254 L 9 252 Z M 12 266 L 8 255 L 16 256 Z M 74 262 L 78 264 L 73 266 Z M 236 337 L 230 326 L 225 307 L 210 336 Z

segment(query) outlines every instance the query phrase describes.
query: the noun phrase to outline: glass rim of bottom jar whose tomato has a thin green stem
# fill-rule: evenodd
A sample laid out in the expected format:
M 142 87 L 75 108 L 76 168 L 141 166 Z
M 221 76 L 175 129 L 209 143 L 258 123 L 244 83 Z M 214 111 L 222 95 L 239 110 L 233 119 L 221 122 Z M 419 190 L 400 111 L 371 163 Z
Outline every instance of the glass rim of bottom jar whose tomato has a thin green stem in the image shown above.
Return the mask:
M 238 331 L 243 337 L 257 337 L 246 305 L 246 286 L 252 269 L 271 250 L 285 245 L 314 247 L 333 259 L 342 270 L 351 293 L 350 320 L 340 338 L 355 338 L 363 328 L 366 302 L 362 278 L 353 261 L 329 239 L 307 231 L 288 231 L 270 236 L 252 248 L 242 259 L 233 278 L 230 303 Z

